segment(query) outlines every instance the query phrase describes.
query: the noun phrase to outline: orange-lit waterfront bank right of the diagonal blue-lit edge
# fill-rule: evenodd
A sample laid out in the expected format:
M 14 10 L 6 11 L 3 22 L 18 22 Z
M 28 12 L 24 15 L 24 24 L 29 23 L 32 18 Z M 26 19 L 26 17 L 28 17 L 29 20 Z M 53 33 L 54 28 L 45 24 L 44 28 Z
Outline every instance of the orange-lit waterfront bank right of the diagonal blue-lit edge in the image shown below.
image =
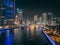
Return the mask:
M 56 30 L 44 30 L 52 40 L 55 41 L 56 45 L 60 45 L 60 34 L 58 32 L 56 32 L 56 34 L 54 34 L 54 31 Z

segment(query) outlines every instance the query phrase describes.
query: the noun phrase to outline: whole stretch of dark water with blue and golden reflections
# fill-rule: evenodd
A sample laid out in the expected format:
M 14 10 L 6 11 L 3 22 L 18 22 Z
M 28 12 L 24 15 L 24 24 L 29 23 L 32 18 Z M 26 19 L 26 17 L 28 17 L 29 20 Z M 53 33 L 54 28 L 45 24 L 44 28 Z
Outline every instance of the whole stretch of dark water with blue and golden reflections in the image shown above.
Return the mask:
M 0 45 L 51 45 L 41 30 L 0 31 Z

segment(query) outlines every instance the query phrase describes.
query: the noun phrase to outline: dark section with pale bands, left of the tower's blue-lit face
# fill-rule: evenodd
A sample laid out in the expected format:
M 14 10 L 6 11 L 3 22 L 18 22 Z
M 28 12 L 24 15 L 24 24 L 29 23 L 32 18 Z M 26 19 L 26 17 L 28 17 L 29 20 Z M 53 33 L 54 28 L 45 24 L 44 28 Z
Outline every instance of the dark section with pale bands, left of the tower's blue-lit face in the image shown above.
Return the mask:
M 3 0 L 0 0 L 0 26 L 4 25 L 5 20 L 5 6 L 3 5 Z

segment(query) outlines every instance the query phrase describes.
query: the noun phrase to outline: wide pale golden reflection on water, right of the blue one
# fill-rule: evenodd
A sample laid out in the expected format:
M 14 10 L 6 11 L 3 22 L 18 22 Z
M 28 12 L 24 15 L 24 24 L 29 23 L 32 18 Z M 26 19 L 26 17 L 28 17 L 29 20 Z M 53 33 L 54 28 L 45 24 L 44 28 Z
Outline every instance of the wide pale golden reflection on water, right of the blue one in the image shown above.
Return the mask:
M 21 45 L 22 43 L 22 37 L 21 37 L 21 30 L 19 29 L 14 29 L 14 38 L 15 38 L 15 45 Z

